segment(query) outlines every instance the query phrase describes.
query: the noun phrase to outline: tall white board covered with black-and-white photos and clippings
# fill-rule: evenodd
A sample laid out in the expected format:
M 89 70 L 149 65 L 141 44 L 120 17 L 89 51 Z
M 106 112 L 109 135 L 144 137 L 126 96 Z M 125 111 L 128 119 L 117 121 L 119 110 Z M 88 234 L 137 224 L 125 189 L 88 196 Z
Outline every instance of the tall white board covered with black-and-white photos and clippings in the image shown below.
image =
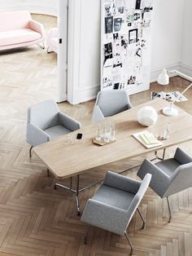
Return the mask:
M 149 89 L 153 0 L 101 1 L 101 90 Z

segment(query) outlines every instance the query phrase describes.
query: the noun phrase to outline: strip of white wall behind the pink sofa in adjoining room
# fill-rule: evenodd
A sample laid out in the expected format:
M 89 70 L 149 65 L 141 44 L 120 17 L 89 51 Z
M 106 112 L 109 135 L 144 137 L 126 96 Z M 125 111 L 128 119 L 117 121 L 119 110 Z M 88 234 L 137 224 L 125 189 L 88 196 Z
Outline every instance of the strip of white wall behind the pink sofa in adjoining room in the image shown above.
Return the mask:
M 58 0 L 0 0 L 0 11 L 30 11 L 57 15 Z

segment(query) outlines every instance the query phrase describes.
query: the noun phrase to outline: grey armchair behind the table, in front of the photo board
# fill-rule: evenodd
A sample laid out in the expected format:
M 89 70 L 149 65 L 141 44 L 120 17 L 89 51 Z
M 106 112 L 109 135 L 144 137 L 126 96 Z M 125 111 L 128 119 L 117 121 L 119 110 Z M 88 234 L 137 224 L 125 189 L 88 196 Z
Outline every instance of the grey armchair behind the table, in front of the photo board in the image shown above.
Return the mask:
M 125 90 L 99 91 L 91 121 L 103 121 L 105 117 L 111 117 L 129 108 L 132 108 L 132 105 Z

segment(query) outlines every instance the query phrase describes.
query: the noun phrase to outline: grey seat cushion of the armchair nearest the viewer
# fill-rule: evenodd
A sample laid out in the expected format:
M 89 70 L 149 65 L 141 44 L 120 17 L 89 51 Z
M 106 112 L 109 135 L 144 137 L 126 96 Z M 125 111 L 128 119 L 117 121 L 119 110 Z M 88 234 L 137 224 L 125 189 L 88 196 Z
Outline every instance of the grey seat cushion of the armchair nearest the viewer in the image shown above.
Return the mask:
M 103 202 L 107 205 L 112 205 L 117 208 L 128 210 L 131 201 L 135 194 L 131 192 L 124 192 L 117 188 L 111 188 L 107 185 L 102 185 L 94 194 L 95 201 Z

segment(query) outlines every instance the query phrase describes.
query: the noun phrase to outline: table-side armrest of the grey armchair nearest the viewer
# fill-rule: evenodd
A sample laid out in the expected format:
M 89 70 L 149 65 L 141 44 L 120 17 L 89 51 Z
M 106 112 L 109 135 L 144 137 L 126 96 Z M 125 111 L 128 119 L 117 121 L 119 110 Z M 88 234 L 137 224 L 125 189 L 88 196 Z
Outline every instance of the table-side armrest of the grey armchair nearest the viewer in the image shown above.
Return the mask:
M 112 188 L 124 190 L 126 192 L 137 193 L 141 182 L 134 179 L 129 179 L 128 177 L 113 173 L 111 171 L 107 171 L 103 184 Z

